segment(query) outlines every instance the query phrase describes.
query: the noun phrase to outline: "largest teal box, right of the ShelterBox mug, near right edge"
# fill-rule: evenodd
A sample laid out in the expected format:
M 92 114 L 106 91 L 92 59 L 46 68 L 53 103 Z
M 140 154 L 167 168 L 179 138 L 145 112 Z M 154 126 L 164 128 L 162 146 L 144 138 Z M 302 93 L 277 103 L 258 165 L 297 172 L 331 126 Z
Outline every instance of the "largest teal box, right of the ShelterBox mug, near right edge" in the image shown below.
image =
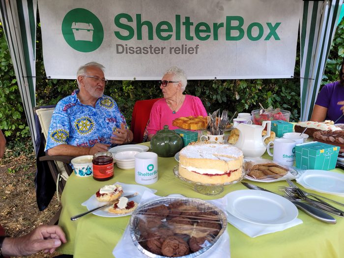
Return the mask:
M 340 147 L 319 142 L 295 146 L 296 167 L 303 170 L 333 170 Z

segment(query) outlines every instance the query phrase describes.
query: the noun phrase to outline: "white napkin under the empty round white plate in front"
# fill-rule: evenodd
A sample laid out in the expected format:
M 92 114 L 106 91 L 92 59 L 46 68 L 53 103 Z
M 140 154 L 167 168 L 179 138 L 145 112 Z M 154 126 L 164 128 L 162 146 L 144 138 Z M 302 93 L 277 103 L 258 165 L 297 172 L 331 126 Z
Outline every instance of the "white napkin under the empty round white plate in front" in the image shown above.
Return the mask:
M 212 201 L 215 205 L 222 205 L 222 207 L 227 206 L 227 197 L 223 197 L 221 199 L 213 200 Z M 225 211 L 227 215 L 228 223 L 233 225 L 235 228 L 239 229 L 241 232 L 247 234 L 250 237 L 256 237 L 259 235 L 269 234 L 277 231 L 282 231 L 299 224 L 302 224 L 303 221 L 295 218 L 293 221 L 281 224 L 281 225 L 274 225 L 274 226 L 267 226 L 267 225 L 258 225 L 255 223 L 243 221 L 231 215 L 228 211 Z

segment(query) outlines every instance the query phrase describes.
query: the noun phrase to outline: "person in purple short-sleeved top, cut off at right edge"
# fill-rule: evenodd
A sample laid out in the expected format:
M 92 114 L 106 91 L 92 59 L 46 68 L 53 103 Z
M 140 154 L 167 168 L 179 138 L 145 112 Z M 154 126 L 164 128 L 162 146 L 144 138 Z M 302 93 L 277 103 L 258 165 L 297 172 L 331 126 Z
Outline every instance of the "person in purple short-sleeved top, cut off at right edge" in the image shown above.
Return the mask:
M 344 113 L 344 59 L 339 71 L 340 80 L 320 90 L 314 105 L 311 121 L 336 121 Z M 344 123 L 344 116 L 336 123 Z

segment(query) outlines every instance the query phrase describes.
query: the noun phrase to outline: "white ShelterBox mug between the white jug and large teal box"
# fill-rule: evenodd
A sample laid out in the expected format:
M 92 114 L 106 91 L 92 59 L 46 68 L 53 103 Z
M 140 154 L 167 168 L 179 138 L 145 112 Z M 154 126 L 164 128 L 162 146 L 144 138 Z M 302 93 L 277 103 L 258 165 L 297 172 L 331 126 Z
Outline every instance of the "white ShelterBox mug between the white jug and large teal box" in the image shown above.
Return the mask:
M 270 145 L 274 144 L 274 154 L 270 152 Z M 267 144 L 267 153 L 273 157 L 272 160 L 281 165 L 292 166 L 295 159 L 295 141 L 290 139 L 275 139 Z

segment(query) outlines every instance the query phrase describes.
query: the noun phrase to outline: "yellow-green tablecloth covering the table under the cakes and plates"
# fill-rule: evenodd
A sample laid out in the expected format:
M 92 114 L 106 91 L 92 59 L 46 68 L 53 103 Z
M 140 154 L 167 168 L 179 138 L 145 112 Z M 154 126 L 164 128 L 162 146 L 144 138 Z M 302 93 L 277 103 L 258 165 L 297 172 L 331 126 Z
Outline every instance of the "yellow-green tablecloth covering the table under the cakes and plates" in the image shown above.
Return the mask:
M 145 143 L 149 145 L 149 143 Z M 268 158 L 267 154 L 264 154 Z M 235 190 L 246 189 L 242 184 L 225 186 L 218 196 L 201 195 L 186 182 L 176 178 L 172 168 L 177 165 L 174 157 L 158 158 L 159 180 L 147 187 L 156 189 L 157 195 L 182 194 L 190 198 L 204 200 L 217 199 Z M 343 170 L 336 169 L 342 173 Z M 72 174 L 61 197 L 62 212 L 59 226 L 66 233 L 67 243 L 58 249 L 62 254 L 72 254 L 74 258 L 113 258 L 112 251 L 129 223 L 130 216 L 104 218 L 88 214 L 76 221 L 70 217 L 85 212 L 81 203 L 105 184 L 115 182 L 136 184 L 134 169 L 120 170 L 115 166 L 115 176 L 106 182 L 92 177 L 81 178 Z M 245 180 L 247 181 L 247 180 Z M 285 181 L 257 183 L 270 191 L 278 192 L 278 186 L 287 185 Z M 326 197 L 344 202 L 344 198 L 323 194 Z M 303 224 L 284 231 L 251 238 L 232 225 L 227 230 L 230 237 L 230 256 L 232 258 L 343 258 L 344 257 L 344 218 L 337 217 L 337 224 L 331 225 L 315 220 L 299 210 Z M 229 256 L 228 256 L 229 257 Z

